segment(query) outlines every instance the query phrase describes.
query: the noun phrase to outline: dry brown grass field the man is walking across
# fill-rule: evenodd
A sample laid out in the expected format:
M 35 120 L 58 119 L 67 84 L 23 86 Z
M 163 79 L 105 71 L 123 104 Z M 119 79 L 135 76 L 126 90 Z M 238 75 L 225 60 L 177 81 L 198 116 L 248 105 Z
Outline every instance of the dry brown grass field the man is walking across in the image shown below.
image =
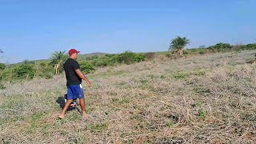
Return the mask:
M 2 143 L 255 143 L 255 51 L 155 58 L 87 75 L 83 119 L 58 120 L 64 75 L 6 83 Z M 78 108 L 79 109 L 79 108 Z

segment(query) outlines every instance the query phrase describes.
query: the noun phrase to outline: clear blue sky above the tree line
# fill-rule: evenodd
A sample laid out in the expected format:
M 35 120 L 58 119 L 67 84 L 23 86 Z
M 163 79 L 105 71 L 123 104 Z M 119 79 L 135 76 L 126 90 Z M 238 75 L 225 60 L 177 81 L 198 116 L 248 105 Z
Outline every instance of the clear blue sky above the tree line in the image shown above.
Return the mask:
M 254 0 L 0 0 L 2 62 L 50 58 L 71 47 L 82 54 L 168 50 L 256 42 Z

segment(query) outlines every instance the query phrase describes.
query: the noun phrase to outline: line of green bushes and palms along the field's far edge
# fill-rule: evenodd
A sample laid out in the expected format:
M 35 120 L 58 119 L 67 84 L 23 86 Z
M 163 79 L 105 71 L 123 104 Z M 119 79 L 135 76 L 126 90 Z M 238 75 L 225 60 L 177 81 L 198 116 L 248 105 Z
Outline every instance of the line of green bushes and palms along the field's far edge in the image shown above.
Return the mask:
M 229 51 L 241 51 L 241 50 L 256 50 L 256 43 L 250 43 L 247 45 L 235 45 L 232 46 L 229 43 L 217 43 L 214 46 L 200 46 L 196 49 L 186 49 L 186 46 L 190 44 L 190 39 L 186 37 L 177 37 L 170 40 L 170 47 L 165 52 L 167 58 L 176 58 L 176 56 L 186 56 L 189 54 L 207 54 L 207 53 L 219 53 Z M 0 50 L 0 53 L 3 53 Z M 118 66 L 120 64 L 133 64 L 136 62 L 143 62 L 146 60 L 152 60 L 155 58 L 156 53 L 134 53 L 126 51 L 121 54 L 105 54 L 105 55 L 93 55 L 90 57 L 80 57 L 78 62 L 80 68 L 86 74 L 94 73 L 98 67 L 104 66 Z M 31 79 L 35 77 L 52 78 L 54 74 L 61 74 L 63 71 L 63 64 L 66 62 L 68 54 L 66 51 L 55 51 L 50 58 L 50 61 L 46 62 L 33 62 L 24 61 L 21 64 L 13 66 L 6 66 L 5 63 L 0 63 L 0 82 L 13 81 L 15 79 Z M 0 85 L 1 88 L 1 85 Z

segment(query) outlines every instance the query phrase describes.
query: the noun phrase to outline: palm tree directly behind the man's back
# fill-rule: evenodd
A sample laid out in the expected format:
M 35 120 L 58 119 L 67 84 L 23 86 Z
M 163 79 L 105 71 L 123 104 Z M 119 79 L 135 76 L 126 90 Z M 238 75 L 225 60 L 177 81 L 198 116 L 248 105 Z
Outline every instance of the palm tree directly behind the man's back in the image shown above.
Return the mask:
M 55 74 L 60 74 L 60 70 L 63 70 L 63 64 L 68 58 L 66 51 L 55 51 L 54 54 L 51 55 L 50 64 L 54 65 Z

